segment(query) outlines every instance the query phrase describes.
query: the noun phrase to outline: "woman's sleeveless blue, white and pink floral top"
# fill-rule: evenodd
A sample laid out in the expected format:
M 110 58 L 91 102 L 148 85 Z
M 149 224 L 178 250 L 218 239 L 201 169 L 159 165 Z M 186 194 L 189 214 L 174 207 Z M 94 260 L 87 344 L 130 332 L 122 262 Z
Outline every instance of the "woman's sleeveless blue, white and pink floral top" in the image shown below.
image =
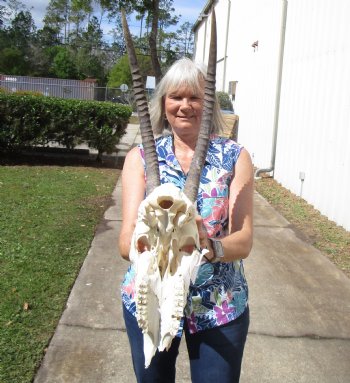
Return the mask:
M 144 160 L 142 145 L 140 153 Z M 186 175 L 173 152 L 171 135 L 156 140 L 161 183 L 184 188 Z M 232 140 L 213 136 L 200 179 L 197 210 L 203 218 L 209 237 L 228 234 L 229 188 L 241 146 Z M 122 283 L 122 300 L 129 312 L 136 315 L 134 301 L 135 270 L 133 265 Z M 226 324 L 245 311 L 248 286 L 243 261 L 204 263 L 195 283 L 190 285 L 184 318 L 190 333 Z M 182 326 L 181 326 L 182 327 Z M 179 329 L 181 333 L 181 328 Z

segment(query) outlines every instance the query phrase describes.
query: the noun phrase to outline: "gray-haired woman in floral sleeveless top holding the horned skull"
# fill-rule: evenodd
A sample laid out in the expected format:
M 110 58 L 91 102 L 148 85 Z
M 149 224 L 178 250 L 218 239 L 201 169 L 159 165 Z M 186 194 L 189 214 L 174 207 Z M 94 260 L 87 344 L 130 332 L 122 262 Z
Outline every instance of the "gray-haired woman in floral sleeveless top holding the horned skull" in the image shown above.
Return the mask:
M 151 104 L 161 183 L 183 188 L 203 113 L 205 71 L 189 59 L 177 61 L 160 82 Z M 192 382 L 238 382 L 249 325 L 248 287 L 242 259 L 249 255 L 253 231 L 253 169 L 248 152 L 220 138 L 222 120 L 214 107 L 213 128 L 198 191 L 197 220 L 206 262 L 190 286 L 183 331 Z M 170 134 L 165 135 L 168 130 Z M 138 207 L 145 196 L 142 147 L 132 149 L 122 176 L 123 224 L 120 254 L 128 259 Z M 215 238 L 217 241 L 210 240 Z M 180 337 L 157 352 L 144 368 L 143 338 L 135 318 L 133 266 L 122 286 L 124 319 L 138 382 L 175 382 Z M 180 329 L 181 330 L 181 329 Z

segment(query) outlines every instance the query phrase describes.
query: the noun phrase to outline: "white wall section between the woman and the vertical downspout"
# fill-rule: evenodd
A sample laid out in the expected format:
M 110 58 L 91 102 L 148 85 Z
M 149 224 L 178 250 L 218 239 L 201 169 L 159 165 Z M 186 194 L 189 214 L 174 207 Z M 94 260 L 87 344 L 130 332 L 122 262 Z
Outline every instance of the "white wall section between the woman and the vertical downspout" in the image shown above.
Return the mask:
M 238 81 L 238 140 L 250 151 L 257 167 L 266 167 L 271 160 L 281 2 L 235 0 L 231 9 L 232 71 L 228 76 Z M 258 42 L 255 48 L 254 42 Z

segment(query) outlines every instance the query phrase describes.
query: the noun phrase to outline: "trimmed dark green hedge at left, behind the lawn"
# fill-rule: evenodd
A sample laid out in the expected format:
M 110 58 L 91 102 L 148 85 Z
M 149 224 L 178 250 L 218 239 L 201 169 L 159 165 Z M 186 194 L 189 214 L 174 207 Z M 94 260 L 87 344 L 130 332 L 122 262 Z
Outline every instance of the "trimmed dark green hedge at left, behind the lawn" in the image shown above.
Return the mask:
M 101 159 L 115 150 L 131 113 L 129 106 L 111 102 L 0 93 L 0 149 L 49 142 L 73 149 L 85 142 Z

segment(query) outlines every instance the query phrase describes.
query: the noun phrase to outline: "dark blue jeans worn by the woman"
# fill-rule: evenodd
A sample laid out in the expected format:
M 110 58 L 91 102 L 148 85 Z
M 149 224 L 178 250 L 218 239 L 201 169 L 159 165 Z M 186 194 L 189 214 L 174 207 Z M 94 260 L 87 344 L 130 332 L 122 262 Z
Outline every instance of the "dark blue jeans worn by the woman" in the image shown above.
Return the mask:
M 180 338 L 175 337 L 168 351 L 157 351 L 145 369 L 143 335 L 136 318 L 123 305 L 126 331 L 138 383 L 174 383 Z M 186 344 L 193 383 L 238 383 L 243 350 L 249 327 L 249 308 L 236 320 L 213 329 L 190 334 L 184 321 Z

